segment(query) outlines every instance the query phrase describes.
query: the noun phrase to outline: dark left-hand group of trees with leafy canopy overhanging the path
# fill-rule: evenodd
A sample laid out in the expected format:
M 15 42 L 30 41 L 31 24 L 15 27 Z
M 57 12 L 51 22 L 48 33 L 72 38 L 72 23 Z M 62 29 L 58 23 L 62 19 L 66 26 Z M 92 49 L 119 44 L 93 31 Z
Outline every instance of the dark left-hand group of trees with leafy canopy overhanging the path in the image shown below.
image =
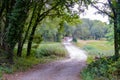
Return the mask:
M 70 11 L 75 2 L 77 1 L 1 0 L 1 56 L 5 55 L 8 59 L 7 62 L 13 63 L 13 51 L 16 44 L 18 44 L 17 56 L 20 57 L 22 47 L 26 41 L 28 44 L 26 56 L 30 56 L 33 38 L 38 25 L 46 17 L 58 16 L 61 19 L 64 17 L 62 22 L 64 22 L 65 18 L 72 20 L 73 17 L 77 17 L 75 13 Z M 59 22 L 60 25 L 62 25 L 62 22 Z M 61 33 L 61 28 L 62 26 L 59 27 L 58 35 Z

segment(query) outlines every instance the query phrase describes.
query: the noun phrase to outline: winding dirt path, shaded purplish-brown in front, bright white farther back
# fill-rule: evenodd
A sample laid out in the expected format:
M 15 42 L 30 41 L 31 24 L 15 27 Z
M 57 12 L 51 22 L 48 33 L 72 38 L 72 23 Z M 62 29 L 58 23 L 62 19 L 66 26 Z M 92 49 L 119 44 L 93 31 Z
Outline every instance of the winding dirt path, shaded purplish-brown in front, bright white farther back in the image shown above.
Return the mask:
M 71 43 L 64 43 L 70 58 L 45 65 L 38 65 L 24 73 L 10 76 L 6 80 L 80 80 L 80 70 L 85 67 L 87 56 Z

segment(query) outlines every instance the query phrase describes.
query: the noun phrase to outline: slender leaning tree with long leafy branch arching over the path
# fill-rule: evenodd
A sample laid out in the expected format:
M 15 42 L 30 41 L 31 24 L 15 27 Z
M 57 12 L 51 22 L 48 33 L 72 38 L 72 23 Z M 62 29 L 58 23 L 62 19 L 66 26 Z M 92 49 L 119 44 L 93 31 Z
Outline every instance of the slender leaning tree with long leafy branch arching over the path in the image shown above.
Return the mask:
M 74 16 L 76 14 L 72 11 L 72 7 L 75 5 L 75 3 L 79 3 L 80 6 L 82 6 L 85 0 L 79 1 L 79 0 L 39 0 L 37 1 L 38 9 L 36 13 L 36 19 L 35 23 L 32 26 L 32 31 L 29 36 L 28 40 L 28 48 L 27 48 L 27 56 L 30 55 L 31 46 L 33 37 L 37 28 L 37 25 L 47 16 L 61 16 L 64 15 L 63 13 L 69 13 L 68 16 Z

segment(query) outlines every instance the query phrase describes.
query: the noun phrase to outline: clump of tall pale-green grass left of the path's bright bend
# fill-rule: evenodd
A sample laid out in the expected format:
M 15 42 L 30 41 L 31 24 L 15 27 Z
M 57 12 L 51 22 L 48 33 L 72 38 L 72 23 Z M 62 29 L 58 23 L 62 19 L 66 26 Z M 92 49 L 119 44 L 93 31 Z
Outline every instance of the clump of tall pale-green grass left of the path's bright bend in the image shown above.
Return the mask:
M 36 50 L 35 56 L 37 58 L 41 57 L 49 57 L 49 56 L 58 56 L 58 57 L 65 57 L 66 50 L 63 46 L 59 43 L 56 44 L 41 44 L 40 47 Z

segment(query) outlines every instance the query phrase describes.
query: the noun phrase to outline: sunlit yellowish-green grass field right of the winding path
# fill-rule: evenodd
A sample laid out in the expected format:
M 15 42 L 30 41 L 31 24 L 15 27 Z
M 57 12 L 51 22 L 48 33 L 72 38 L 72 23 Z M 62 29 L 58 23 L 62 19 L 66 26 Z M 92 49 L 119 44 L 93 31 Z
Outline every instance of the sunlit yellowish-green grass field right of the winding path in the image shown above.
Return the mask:
M 100 40 L 78 40 L 76 43 L 81 49 L 87 51 L 89 56 L 112 56 L 114 46 L 108 41 Z

